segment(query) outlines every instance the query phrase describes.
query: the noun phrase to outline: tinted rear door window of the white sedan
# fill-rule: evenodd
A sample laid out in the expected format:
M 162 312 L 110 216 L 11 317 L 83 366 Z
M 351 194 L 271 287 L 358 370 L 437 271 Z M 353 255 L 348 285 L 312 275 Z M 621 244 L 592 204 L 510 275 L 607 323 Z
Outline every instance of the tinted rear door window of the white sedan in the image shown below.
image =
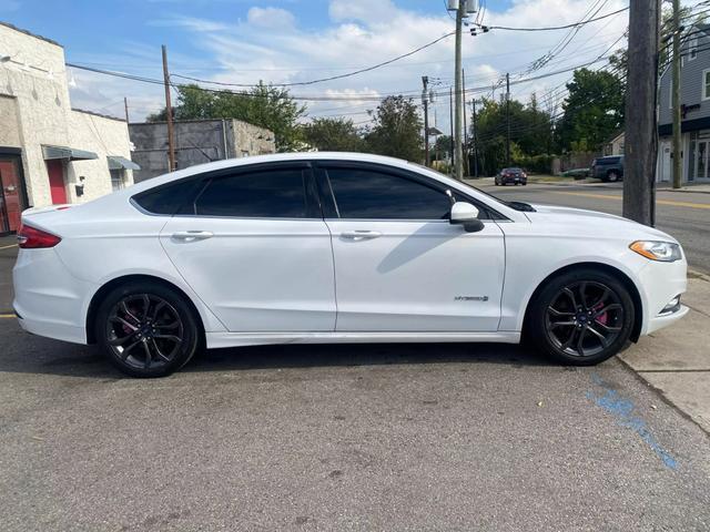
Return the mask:
M 300 168 L 284 168 L 215 177 L 196 197 L 193 214 L 303 218 L 306 216 L 304 173 Z

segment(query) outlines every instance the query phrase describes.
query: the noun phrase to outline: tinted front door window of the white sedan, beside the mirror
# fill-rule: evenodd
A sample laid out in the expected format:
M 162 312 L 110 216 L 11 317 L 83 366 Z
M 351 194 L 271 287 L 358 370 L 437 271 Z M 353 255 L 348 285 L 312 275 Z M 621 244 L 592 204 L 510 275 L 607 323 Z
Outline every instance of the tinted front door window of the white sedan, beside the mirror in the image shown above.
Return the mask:
M 342 218 L 446 219 L 446 194 L 416 181 L 368 168 L 328 168 Z

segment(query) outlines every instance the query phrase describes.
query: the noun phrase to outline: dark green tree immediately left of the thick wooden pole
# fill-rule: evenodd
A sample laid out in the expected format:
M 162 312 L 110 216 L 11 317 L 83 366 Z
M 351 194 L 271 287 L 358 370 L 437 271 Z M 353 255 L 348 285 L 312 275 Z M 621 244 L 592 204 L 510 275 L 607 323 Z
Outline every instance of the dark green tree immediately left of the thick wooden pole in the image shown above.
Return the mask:
M 567 83 L 569 94 L 557 124 L 565 150 L 598 151 L 623 125 L 625 86 L 611 72 L 579 69 Z

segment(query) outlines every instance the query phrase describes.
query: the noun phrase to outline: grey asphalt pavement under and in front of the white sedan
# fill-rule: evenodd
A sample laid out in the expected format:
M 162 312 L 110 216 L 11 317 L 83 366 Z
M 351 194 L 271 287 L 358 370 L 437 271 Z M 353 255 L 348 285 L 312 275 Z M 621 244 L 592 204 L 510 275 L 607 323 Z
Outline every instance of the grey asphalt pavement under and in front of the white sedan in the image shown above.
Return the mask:
M 710 528 L 708 434 L 618 359 L 276 346 L 134 380 L 0 338 L 2 530 Z

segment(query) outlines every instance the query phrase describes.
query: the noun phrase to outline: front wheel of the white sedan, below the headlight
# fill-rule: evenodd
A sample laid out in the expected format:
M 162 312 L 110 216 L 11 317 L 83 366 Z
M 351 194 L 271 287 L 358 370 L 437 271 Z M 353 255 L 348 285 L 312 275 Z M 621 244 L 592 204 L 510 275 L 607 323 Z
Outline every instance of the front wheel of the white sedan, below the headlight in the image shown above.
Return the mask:
M 541 287 L 530 301 L 526 335 L 558 362 L 592 366 L 628 345 L 633 324 L 626 286 L 604 272 L 580 268 Z

